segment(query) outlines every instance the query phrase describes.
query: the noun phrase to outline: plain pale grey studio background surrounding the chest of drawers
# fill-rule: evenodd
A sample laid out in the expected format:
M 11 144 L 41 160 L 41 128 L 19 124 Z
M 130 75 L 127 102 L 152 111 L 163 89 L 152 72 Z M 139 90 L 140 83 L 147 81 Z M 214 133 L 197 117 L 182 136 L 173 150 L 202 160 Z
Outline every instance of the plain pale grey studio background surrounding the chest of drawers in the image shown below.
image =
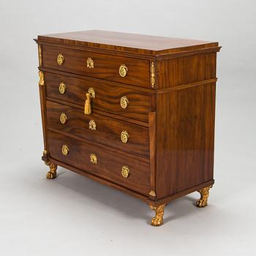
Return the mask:
M 0 255 L 255 255 L 255 1 L 0 2 Z M 37 34 L 87 29 L 219 41 L 215 179 L 151 227 L 142 201 L 40 160 Z

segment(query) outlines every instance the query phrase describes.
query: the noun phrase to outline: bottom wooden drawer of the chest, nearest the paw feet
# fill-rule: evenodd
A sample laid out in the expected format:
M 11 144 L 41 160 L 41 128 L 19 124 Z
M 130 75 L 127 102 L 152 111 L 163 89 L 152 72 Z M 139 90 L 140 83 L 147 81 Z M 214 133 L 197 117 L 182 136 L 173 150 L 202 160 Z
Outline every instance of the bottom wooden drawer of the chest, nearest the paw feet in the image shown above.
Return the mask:
M 48 148 L 53 159 L 148 195 L 150 173 L 149 165 L 144 162 L 51 131 L 48 131 Z

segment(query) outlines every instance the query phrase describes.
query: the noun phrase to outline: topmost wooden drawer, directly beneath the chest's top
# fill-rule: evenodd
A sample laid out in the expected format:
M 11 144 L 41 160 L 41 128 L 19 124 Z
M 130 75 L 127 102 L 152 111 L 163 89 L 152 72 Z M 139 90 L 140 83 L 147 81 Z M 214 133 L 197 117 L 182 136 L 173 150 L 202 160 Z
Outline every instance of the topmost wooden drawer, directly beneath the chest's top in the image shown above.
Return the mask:
M 42 58 L 43 67 L 45 68 L 102 78 L 118 83 L 150 87 L 149 61 L 147 60 L 50 45 L 42 46 Z M 63 61 L 58 63 L 58 59 Z

